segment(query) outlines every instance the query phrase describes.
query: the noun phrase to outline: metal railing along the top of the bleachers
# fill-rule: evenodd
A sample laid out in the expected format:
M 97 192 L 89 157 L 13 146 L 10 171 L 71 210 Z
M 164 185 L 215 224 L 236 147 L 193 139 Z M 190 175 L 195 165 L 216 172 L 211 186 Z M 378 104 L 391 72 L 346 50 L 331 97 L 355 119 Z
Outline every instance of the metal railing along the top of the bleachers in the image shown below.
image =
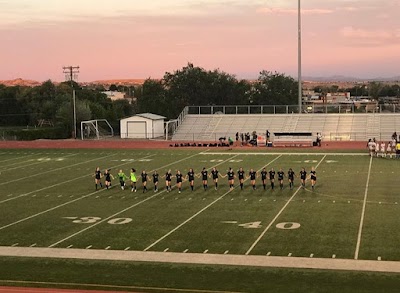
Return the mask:
M 233 106 L 187 106 L 179 115 L 183 121 L 187 114 L 210 115 L 210 114 L 298 114 L 298 105 L 233 105 Z M 303 105 L 303 113 L 308 114 L 345 114 L 345 113 L 400 113 L 400 105 L 355 105 L 355 104 L 325 104 L 325 105 Z

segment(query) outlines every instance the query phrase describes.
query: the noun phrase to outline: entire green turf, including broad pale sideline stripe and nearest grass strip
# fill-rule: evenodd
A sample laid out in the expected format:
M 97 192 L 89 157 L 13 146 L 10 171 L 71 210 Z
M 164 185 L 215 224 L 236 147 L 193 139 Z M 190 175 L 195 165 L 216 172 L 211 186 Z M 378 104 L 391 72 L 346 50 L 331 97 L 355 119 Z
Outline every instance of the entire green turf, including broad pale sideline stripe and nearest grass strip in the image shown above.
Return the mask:
M 220 178 L 96 191 L 93 173 L 317 171 L 311 189 Z M 330 149 L 0 149 L 0 285 L 126 292 L 391 292 L 399 160 Z M 175 178 L 172 181 L 175 184 Z M 127 182 L 129 184 L 129 181 Z M 288 281 L 290 280 L 290 281 Z M 9 289 L 11 290 L 11 289 Z M 21 292 L 21 291 L 19 291 Z M 25 291 L 29 292 L 29 291 Z M 41 291 L 36 291 L 41 292 Z M 54 292 L 54 291 L 52 291 Z

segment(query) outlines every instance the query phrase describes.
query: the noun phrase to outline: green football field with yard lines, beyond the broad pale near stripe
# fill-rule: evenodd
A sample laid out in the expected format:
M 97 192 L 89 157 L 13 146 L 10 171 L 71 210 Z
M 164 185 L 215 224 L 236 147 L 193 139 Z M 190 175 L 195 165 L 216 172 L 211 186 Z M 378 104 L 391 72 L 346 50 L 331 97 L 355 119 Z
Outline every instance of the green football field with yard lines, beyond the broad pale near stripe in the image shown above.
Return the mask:
M 111 189 L 95 190 L 98 166 L 111 169 Z M 182 193 L 167 192 L 160 179 L 157 192 L 151 181 L 142 192 L 141 170 L 151 176 L 203 167 L 221 175 L 229 167 L 246 175 L 250 168 L 292 168 L 298 177 L 293 189 L 285 177 L 283 189 L 268 182 L 264 190 L 260 178 L 256 190 L 248 178 L 243 190 L 237 178 L 229 189 L 220 178 L 217 190 L 212 179 L 204 190 L 196 177 L 194 191 L 184 181 Z M 302 167 L 316 168 L 314 190 L 309 180 L 301 188 Z M 117 180 L 120 169 L 129 176 L 131 168 L 137 192 L 121 190 Z M 399 174 L 399 160 L 355 152 L 0 150 L 0 246 L 397 262 Z M 0 277 L 12 278 L 1 271 Z

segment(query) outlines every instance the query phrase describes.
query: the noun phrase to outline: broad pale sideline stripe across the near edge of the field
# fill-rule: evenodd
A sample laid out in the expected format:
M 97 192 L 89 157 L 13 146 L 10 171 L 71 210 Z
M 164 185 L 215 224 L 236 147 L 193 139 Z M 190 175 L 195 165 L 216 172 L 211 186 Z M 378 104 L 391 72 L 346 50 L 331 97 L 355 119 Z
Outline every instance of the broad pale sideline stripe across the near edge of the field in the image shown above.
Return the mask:
M 249 267 L 310 268 L 343 271 L 400 273 L 399 261 L 354 260 L 265 255 L 176 253 L 159 251 L 123 251 L 104 249 L 65 249 L 45 247 L 0 247 L 0 256 L 116 260 L 129 262 L 161 262 L 181 264 L 235 265 Z

